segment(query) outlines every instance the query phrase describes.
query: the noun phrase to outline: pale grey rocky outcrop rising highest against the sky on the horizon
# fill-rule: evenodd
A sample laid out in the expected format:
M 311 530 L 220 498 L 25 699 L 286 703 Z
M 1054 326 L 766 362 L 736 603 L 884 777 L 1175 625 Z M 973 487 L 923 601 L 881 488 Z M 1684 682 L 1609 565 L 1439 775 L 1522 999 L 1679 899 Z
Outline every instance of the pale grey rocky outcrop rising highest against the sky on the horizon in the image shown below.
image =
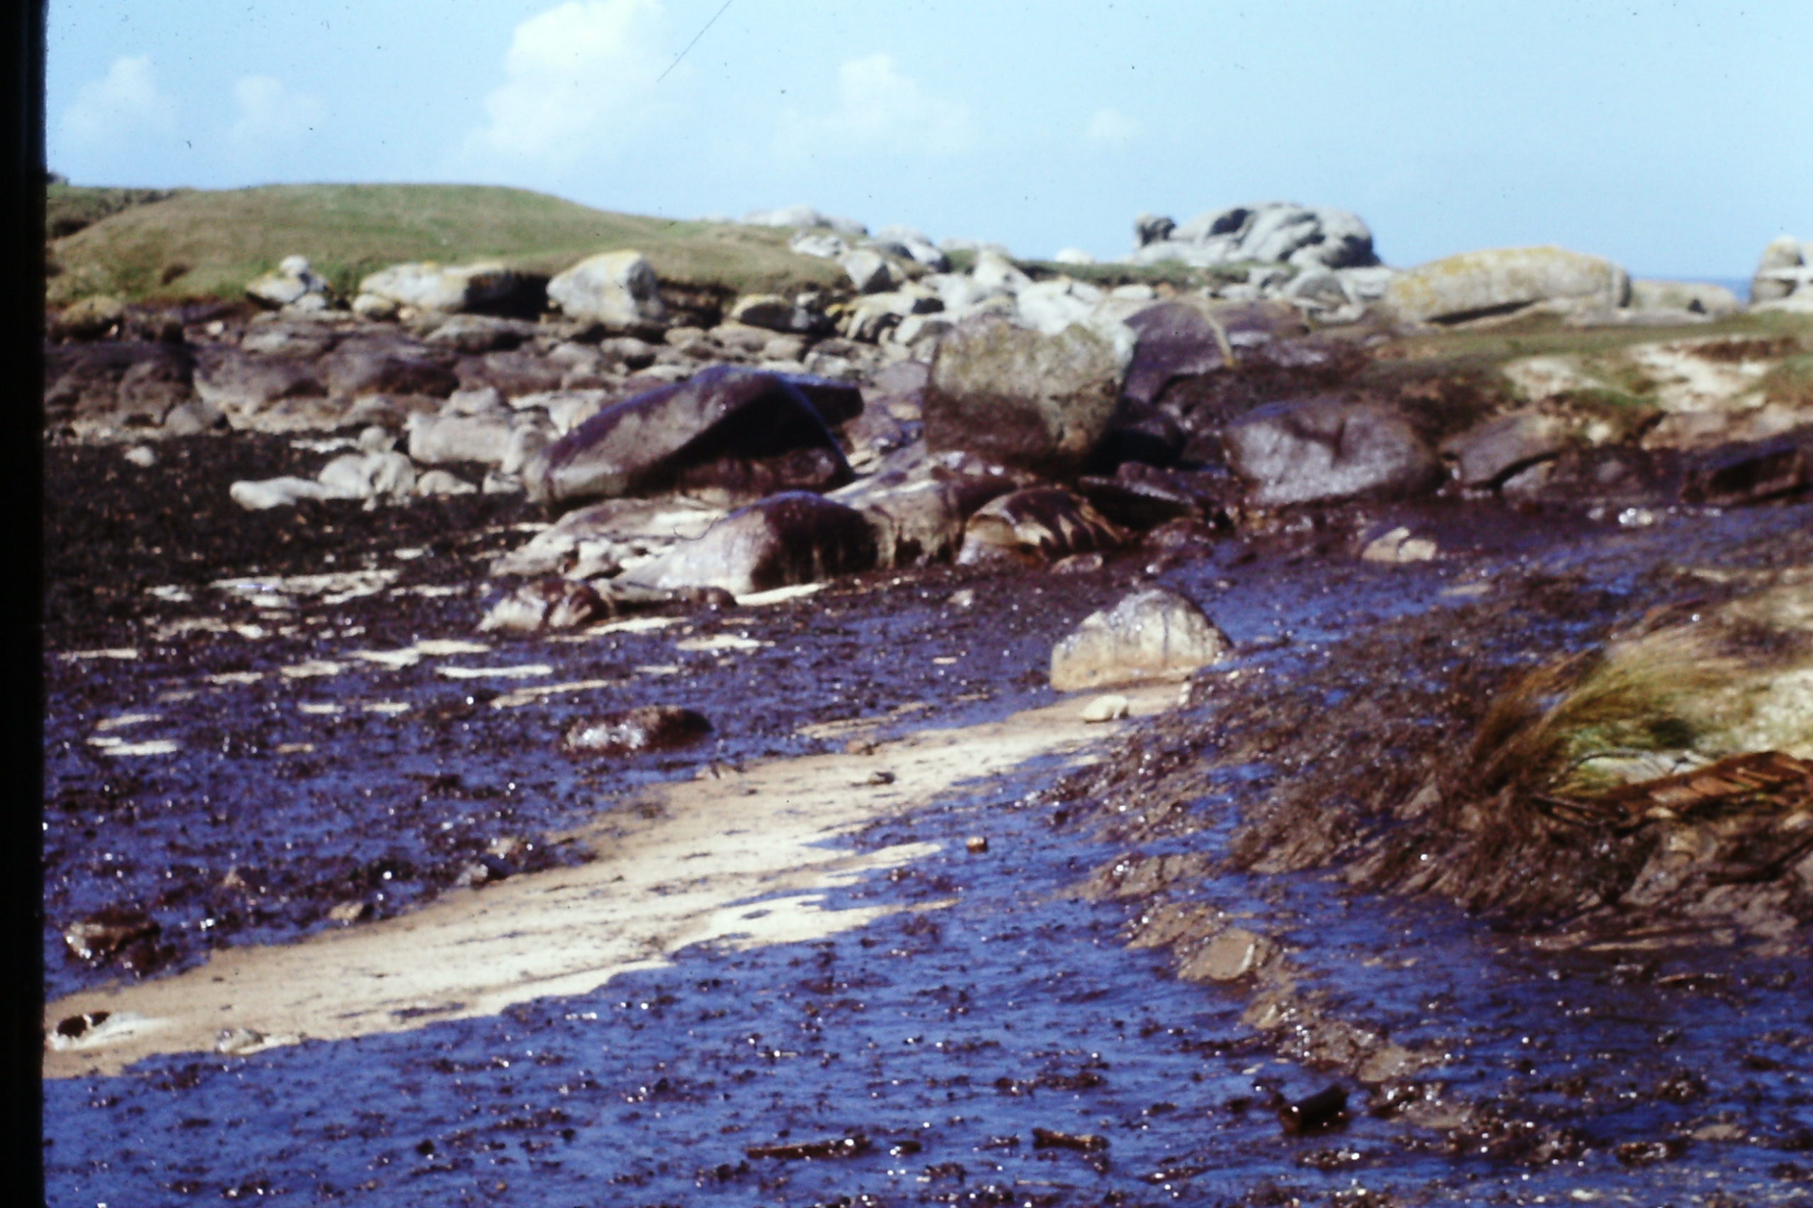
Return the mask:
M 1372 232 L 1358 216 L 1291 201 L 1209 210 L 1182 226 L 1168 217 L 1140 216 L 1135 223 L 1140 246 L 1128 263 L 1180 261 L 1215 268 L 1242 261 L 1296 266 L 1363 268 L 1378 264 Z

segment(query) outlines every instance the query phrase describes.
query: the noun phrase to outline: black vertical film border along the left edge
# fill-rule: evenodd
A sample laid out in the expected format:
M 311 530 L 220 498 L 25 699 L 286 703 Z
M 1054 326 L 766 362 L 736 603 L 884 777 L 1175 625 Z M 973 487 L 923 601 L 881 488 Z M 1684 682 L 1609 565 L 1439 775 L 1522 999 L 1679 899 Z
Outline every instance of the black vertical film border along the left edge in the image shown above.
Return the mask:
M 0 790 L 0 886 L 5 895 L 7 1186 L 16 1203 L 44 1203 L 44 0 L 5 9 L 7 112 L 0 123 L 5 214 L 0 216 L 0 518 L 7 775 Z

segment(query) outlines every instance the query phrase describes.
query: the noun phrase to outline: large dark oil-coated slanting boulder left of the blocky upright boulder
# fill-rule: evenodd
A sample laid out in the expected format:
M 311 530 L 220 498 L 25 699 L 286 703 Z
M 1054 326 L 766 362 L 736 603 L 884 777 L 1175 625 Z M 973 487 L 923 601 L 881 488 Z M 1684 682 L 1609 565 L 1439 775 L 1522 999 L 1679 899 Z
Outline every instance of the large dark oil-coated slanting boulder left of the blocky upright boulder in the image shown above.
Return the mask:
M 713 366 L 606 407 L 524 471 L 529 496 L 567 505 L 676 491 L 734 505 L 776 491 L 827 491 L 850 467 L 825 426 L 818 393 L 861 393 L 829 382 Z

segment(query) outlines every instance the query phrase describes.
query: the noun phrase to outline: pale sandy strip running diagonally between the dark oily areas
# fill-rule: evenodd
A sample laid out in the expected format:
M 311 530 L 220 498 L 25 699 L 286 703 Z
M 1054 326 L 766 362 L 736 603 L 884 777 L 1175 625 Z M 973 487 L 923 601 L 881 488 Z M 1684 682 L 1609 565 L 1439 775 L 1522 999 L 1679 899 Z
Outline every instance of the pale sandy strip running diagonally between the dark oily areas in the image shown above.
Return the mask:
M 1126 695 L 1139 717 L 1171 705 L 1177 686 Z M 45 1078 L 116 1074 L 165 1052 L 247 1052 L 490 1016 L 584 994 L 703 940 L 785 944 L 859 927 L 890 907 L 825 909 L 823 893 L 936 848 L 850 853 L 827 840 L 959 781 L 1108 737 L 1119 726 L 1082 721 L 1088 699 L 921 730 L 865 755 L 812 755 L 667 784 L 642 808 L 615 810 L 569 835 L 598 857 L 582 868 L 453 891 L 401 918 L 297 944 L 223 949 L 170 978 L 71 994 L 45 1007 L 47 1032 L 83 1012 L 112 1020 L 47 1049 Z M 870 784 L 876 772 L 892 773 L 892 782 Z

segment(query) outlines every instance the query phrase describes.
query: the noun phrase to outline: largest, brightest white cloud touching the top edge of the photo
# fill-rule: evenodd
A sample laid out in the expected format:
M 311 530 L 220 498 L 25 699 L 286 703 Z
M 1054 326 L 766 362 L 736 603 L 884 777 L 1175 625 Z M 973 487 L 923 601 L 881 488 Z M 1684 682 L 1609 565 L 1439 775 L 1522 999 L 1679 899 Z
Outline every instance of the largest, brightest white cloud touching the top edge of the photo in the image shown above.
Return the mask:
M 654 85 L 673 51 L 662 29 L 658 0 L 567 0 L 522 22 L 464 152 L 566 167 L 618 150 L 664 110 Z

